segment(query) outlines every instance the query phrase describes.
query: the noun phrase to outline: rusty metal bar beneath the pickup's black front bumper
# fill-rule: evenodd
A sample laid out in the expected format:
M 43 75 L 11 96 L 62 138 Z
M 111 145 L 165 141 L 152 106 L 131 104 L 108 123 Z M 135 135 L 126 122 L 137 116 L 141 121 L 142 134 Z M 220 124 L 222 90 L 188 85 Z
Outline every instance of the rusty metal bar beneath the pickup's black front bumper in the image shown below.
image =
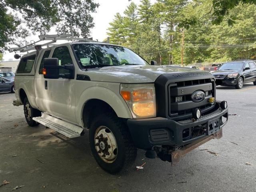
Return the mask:
M 197 140 L 196 142 L 188 144 L 188 145 L 184 146 L 183 148 L 181 148 L 180 150 L 171 152 L 172 166 L 176 165 L 183 156 L 185 156 L 188 152 L 192 151 L 193 149 L 199 147 L 200 145 L 202 145 L 212 139 L 220 139 L 220 138 L 222 138 L 222 128 L 212 135 L 209 135 L 205 138 Z

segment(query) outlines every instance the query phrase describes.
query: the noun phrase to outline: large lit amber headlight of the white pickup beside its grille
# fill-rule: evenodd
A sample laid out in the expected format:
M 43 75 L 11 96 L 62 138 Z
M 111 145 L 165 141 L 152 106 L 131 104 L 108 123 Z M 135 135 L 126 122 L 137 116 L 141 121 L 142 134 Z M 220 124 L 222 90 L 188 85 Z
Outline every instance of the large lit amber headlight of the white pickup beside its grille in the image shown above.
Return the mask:
M 156 116 L 154 84 L 121 84 L 120 94 L 128 104 L 134 118 Z

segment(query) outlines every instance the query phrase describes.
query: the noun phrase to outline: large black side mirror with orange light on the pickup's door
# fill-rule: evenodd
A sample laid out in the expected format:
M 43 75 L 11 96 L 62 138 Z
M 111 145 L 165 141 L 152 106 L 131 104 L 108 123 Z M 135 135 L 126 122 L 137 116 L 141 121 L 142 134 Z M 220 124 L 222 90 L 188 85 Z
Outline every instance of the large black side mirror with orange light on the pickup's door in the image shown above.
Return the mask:
M 60 74 L 60 69 L 69 70 L 69 73 L 68 74 Z M 60 77 L 73 79 L 74 74 L 75 74 L 74 73 L 74 65 L 68 64 L 68 65 L 61 66 L 61 65 L 59 65 L 58 58 L 45 58 L 43 74 L 44 74 L 44 78 L 46 78 L 46 79 L 58 79 Z

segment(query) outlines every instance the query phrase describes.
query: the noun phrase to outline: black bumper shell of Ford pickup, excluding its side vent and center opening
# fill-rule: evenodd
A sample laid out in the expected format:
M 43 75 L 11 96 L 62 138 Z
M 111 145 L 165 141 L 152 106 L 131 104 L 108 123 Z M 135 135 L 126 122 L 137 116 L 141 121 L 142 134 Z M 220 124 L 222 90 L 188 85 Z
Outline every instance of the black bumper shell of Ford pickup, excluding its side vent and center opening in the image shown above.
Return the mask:
M 228 108 L 222 110 L 221 108 L 218 108 L 218 103 L 216 103 L 216 108 L 214 111 L 208 115 L 202 116 L 202 118 L 194 122 L 192 120 L 176 122 L 168 118 L 156 117 L 147 119 L 128 119 L 127 125 L 135 146 L 137 148 L 148 150 L 156 145 L 184 146 L 200 138 L 204 138 L 207 135 L 202 135 L 190 140 L 183 141 L 182 132 L 186 128 L 208 124 L 208 122 L 216 120 L 222 116 L 227 116 L 227 120 L 226 122 L 220 124 L 220 128 L 222 128 L 228 122 Z M 154 129 L 167 130 L 169 132 L 170 139 L 166 141 L 152 142 L 152 139 L 150 139 L 150 130 Z

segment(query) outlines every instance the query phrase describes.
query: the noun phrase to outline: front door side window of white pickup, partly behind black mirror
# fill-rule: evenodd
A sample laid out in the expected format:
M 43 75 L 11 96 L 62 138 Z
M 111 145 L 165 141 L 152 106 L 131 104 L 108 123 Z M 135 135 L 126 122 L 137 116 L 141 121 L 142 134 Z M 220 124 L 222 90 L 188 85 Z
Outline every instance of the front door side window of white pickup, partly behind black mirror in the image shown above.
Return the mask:
M 68 47 L 63 46 L 63 47 L 57 47 L 54 50 L 54 53 L 52 55 L 52 58 L 58 58 L 59 59 L 59 65 L 68 65 L 68 64 L 73 64 L 72 63 L 72 58 L 70 56 Z M 60 69 L 60 74 L 67 74 L 69 70 L 66 69 Z

